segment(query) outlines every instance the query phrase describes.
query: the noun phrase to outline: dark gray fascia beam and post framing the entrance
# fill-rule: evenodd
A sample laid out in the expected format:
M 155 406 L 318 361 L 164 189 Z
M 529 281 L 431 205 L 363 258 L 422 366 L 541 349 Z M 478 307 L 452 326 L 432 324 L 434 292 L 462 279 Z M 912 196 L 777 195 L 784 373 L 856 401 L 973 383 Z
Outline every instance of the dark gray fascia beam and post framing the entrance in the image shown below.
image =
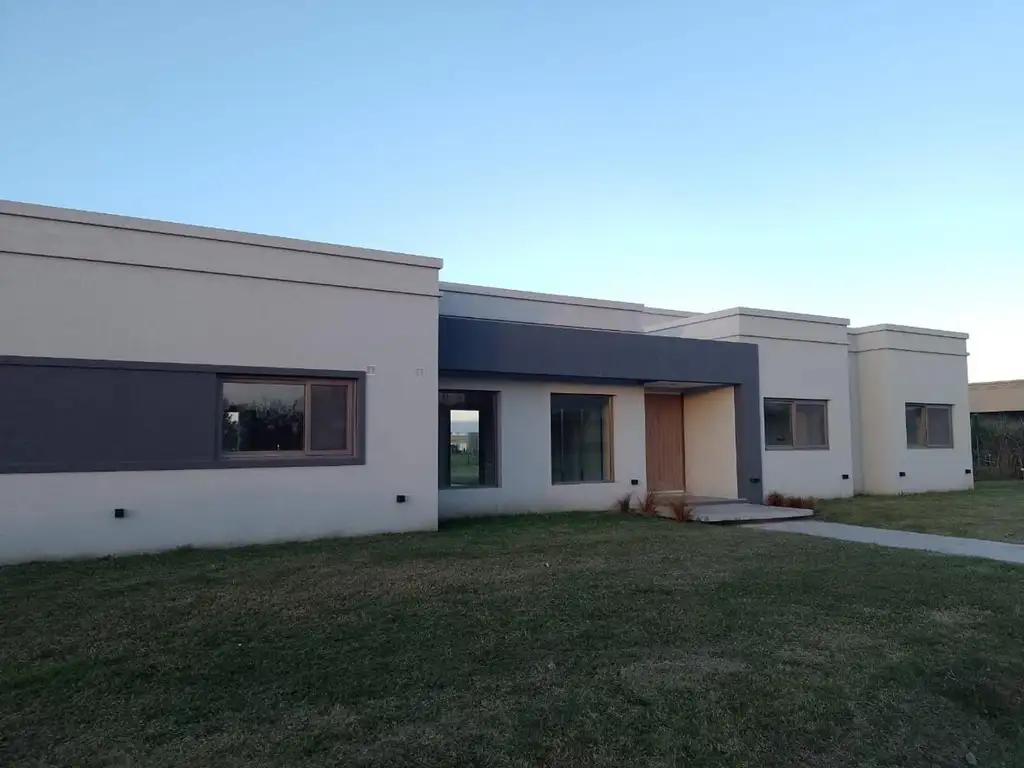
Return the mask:
M 442 376 L 735 387 L 736 487 L 741 498 L 761 503 L 757 344 L 443 315 L 438 334 Z

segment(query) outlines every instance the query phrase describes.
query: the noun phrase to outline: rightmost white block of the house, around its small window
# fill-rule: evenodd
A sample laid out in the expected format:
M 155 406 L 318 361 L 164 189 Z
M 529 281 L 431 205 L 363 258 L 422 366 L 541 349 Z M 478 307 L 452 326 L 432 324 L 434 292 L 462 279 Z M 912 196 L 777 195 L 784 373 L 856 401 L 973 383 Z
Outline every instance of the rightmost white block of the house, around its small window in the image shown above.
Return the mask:
M 967 336 L 881 326 L 851 329 L 861 413 L 864 493 L 974 487 Z M 953 446 L 906 444 L 907 402 L 951 404 Z M 900 477 L 899 473 L 905 476 Z

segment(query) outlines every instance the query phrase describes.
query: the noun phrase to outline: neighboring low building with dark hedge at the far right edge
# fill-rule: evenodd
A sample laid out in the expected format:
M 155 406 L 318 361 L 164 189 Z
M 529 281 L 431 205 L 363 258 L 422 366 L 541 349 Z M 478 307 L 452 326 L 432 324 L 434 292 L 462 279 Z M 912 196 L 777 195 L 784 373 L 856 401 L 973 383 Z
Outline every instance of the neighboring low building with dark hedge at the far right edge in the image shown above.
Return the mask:
M 1024 379 L 971 384 L 970 396 L 975 473 L 1024 478 Z

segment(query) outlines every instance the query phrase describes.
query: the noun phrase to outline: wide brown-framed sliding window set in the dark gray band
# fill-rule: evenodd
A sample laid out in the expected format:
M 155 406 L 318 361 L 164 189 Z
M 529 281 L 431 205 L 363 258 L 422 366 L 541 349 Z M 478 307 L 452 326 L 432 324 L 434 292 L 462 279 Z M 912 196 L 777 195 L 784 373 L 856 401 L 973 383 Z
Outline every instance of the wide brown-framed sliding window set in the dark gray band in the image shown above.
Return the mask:
M 348 380 L 225 380 L 221 455 L 352 456 L 354 397 Z

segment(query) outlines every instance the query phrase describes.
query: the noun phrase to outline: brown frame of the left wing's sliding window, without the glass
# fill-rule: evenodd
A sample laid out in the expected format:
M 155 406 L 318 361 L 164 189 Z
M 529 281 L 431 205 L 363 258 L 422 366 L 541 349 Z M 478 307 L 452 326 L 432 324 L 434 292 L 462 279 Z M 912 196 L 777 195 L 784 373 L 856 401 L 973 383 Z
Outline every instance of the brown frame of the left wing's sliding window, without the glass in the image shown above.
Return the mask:
M 362 446 L 357 444 L 357 438 L 359 435 L 358 425 L 356 424 L 356 419 L 358 418 L 357 413 L 357 396 L 358 396 L 358 385 L 359 381 L 356 379 L 342 379 L 342 378 L 309 378 L 309 377 L 278 377 L 278 376 L 221 376 L 217 382 L 217 419 L 223 418 L 223 408 L 224 408 L 224 385 L 225 384 L 281 384 L 285 386 L 295 386 L 297 384 L 303 385 L 303 400 L 302 400 L 302 451 L 224 451 L 223 450 L 223 434 L 220 429 L 217 430 L 217 456 L 221 461 L 224 462 L 239 462 L 239 463 L 260 463 L 274 460 L 282 461 L 302 461 L 303 459 L 308 459 L 311 461 L 317 459 L 339 459 L 339 460 L 358 460 L 361 456 Z M 313 386 L 337 386 L 344 387 L 346 391 L 345 404 L 348 410 L 348 418 L 346 420 L 346 444 L 347 449 L 343 451 L 314 451 L 311 447 L 312 440 L 312 425 L 311 425 L 311 403 L 312 403 L 312 387 Z

